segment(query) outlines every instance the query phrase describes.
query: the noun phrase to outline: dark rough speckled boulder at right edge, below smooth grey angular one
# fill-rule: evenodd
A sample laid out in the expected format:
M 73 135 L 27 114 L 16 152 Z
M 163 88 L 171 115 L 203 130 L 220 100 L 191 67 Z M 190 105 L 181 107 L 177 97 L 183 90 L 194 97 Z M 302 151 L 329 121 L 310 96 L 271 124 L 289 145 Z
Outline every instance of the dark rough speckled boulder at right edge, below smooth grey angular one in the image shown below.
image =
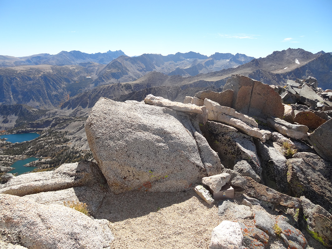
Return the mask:
M 304 195 L 313 203 L 329 209 L 332 206 L 332 167 L 319 156 L 299 152 L 287 160 L 287 180 L 294 196 Z

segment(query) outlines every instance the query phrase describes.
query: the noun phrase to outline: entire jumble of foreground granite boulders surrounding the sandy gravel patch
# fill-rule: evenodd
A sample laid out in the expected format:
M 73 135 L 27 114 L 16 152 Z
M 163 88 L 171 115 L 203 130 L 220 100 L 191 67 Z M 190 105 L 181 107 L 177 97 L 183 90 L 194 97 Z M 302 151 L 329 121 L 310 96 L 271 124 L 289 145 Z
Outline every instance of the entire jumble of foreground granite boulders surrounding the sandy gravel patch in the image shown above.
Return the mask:
M 101 98 L 85 125 L 94 162 L 0 184 L 0 247 L 114 248 L 112 221 L 125 219 L 112 216 L 115 196 L 158 200 L 195 189 L 204 208 L 217 208 L 209 219 L 223 221 L 200 246 L 169 248 L 332 248 L 332 103 L 315 83 L 276 87 L 232 75 L 224 92 L 184 103 Z M 226 184 L 234 198 L 214 200 L 208 189 Z M 122 200 L 120 208 L 131 201 Z M 89 215 L 68 201 L 85 203 Z M 126 215 L 130 223 L 134 214 Z

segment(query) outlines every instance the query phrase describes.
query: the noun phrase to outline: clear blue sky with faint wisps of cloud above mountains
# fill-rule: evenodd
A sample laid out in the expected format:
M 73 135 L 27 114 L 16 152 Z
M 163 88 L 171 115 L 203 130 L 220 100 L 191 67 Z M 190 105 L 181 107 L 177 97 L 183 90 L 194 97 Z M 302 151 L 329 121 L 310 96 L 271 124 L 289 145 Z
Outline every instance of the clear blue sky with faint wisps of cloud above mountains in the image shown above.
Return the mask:
M 0 54 L 332 51 L 332 0 L 0 0 Z

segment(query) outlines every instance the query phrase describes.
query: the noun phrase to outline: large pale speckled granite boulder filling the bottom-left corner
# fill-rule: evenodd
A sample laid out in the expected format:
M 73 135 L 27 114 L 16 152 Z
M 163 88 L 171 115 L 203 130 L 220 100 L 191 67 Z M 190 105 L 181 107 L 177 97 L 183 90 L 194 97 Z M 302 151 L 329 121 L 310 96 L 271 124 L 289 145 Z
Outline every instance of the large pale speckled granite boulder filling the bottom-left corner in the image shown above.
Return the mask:
M 69 207 L 41 205 L 24 197 L 0 194 L 0 230 L 12 244 L 29 249 L 111 248 L 111 223 Z M 33 229 L 32 229 L 33 228 Z

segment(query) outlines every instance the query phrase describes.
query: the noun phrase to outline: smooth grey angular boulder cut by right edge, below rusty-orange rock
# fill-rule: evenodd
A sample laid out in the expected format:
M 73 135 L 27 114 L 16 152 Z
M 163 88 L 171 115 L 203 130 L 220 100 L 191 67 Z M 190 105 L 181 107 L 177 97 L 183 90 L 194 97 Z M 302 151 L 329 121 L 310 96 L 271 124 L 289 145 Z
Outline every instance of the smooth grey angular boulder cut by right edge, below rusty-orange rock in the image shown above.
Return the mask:
M 332 119 L 315 129 L 308 140 L 318 155 L 332 162 Z

